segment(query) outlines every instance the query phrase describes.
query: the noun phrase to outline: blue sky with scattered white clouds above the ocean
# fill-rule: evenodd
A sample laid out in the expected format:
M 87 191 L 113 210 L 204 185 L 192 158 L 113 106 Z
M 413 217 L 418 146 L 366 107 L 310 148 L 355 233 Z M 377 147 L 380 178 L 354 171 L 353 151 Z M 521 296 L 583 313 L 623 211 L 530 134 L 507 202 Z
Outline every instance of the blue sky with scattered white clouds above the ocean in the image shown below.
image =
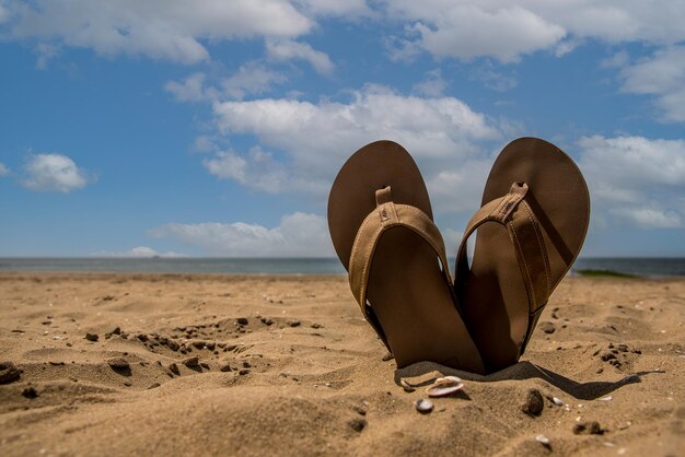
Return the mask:
M 333 257 L 403 144 L 454 255 L 511 140 L 579 164 L 587 257 L 685 256 L 682 0 L 0 0 L 0 256 Z

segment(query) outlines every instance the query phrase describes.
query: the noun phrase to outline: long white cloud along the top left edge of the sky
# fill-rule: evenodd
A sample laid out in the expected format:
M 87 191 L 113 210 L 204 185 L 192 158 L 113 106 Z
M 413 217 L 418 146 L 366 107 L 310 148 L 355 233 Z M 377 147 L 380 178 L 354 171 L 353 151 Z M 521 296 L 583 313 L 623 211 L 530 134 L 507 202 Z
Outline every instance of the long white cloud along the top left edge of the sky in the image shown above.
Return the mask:
M 182 63 L 209 59 L 205 39 L 289 38 L 314 26 L 286 0 L 10 0 L 5 8 L 14 38 Z

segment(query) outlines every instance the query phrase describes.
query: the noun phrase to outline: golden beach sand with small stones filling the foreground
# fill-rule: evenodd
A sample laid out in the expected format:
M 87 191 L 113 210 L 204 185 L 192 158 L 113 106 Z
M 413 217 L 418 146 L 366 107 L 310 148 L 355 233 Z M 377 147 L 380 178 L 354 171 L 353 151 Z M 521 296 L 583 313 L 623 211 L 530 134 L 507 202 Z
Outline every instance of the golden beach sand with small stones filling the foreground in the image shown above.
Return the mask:
M 2 273 L 0 313 L 3 456 L 685 455 L 685 279 L 567 278 L 485 378 L 397 371 L 342 277 Z

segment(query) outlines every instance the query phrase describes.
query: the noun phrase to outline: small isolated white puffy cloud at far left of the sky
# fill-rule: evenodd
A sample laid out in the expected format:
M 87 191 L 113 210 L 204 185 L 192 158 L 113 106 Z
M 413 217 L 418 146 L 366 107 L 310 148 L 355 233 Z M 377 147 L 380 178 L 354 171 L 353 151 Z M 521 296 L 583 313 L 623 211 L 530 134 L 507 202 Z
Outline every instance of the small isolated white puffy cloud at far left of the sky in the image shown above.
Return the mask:
M 70 192 L 85 187 L 92 178 L 66 155 L 36 154 L 24 167 L 23 186 L 31 190 Z

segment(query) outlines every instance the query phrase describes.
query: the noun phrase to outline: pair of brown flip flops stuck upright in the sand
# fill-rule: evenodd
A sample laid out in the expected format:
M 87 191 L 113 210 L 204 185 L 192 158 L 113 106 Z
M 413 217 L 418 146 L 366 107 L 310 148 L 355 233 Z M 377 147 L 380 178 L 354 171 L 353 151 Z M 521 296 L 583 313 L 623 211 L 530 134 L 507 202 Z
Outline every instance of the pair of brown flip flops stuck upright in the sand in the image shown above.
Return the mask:
M 523 354 L 589 219 L 582 174 L 535 138 L 512 141 L 496 160 L 454 279 L 423 178 L 399 144 L 357 151 L 328 198 L 330 236 L 355 298 L 397 366 L 432 361 L 478 374 Z M 476 230 L 469 265 L 466 239 Z

